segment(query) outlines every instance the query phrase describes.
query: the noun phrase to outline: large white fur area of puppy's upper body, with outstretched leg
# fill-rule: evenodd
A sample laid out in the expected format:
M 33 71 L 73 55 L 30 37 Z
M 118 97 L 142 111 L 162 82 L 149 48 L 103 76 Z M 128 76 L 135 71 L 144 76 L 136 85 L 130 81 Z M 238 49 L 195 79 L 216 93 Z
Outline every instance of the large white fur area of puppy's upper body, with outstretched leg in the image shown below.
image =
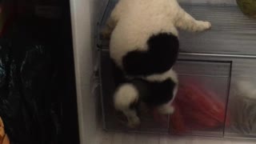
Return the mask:
M 177 28 L 202 31 L 210 28 L 210 22 L 197 21 L 178 5 L 176 0 L 120 0 L 107 22 L 105 34 L 111 34 L 110 56 L 122 67 L 127 52 L 147 50 L 146 42 L 152 34 L 172 33 Z

